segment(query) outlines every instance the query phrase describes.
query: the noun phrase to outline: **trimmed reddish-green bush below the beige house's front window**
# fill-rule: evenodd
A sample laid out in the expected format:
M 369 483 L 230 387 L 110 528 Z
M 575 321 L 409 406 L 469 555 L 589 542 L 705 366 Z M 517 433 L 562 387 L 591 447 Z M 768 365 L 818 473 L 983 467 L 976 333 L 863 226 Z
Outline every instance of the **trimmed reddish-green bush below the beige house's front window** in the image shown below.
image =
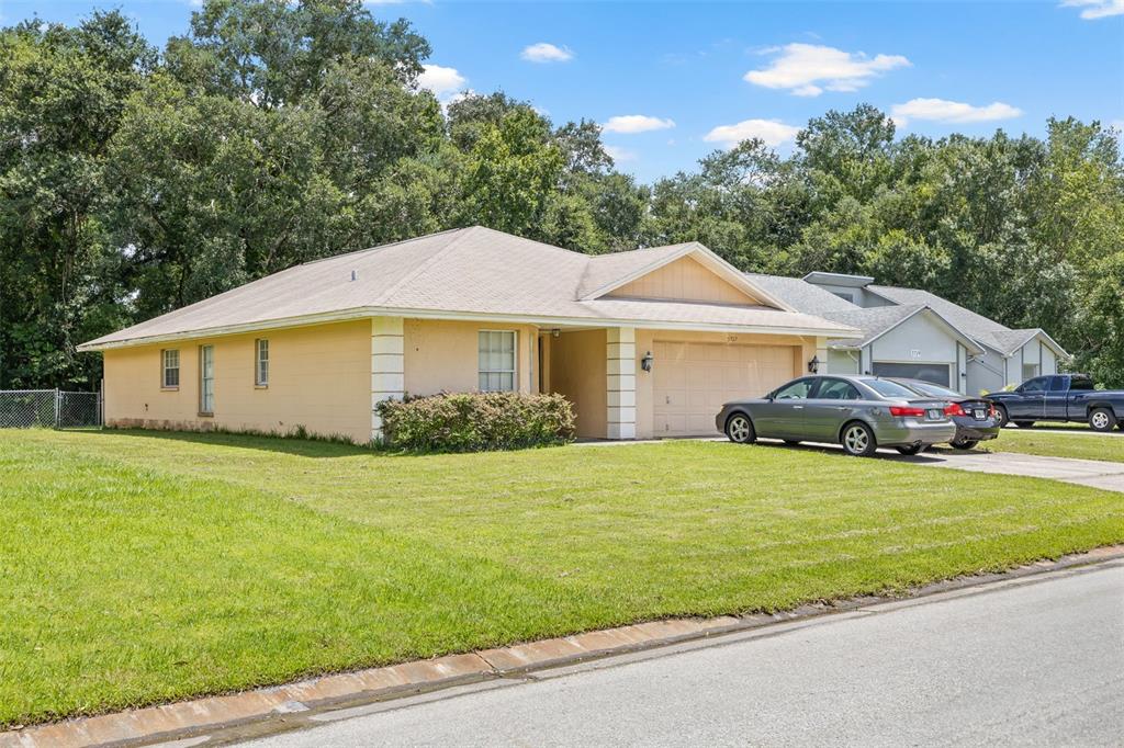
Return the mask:
M 573 405 L 559 394 L 453 392 L 380 402 L 388 445 L 416 451 L 484 451 L 565 444 Z

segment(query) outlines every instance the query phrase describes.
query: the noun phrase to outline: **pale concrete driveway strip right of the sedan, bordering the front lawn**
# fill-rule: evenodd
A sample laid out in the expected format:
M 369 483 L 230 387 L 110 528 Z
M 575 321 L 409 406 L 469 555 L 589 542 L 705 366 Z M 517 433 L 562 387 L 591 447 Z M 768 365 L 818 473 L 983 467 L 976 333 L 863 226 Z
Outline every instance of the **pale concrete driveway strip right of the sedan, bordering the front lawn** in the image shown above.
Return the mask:
M 1124 493 L 1124 463 L 1072 457 L 1017 455 L 1010 451 L 926 451 L 913 457 L 892 457 L 905 463 L 951 467 L 976 473 L 1043 477 Z

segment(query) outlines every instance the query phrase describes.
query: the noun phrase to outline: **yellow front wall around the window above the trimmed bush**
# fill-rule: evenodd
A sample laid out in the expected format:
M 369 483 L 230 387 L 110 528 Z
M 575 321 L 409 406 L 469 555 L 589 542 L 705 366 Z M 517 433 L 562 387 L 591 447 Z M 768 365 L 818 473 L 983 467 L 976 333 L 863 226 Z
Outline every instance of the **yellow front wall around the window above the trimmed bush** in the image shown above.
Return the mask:
M 479 386 L 480 330 L 515 330 L 519 392 L 538 390 L 537 328 L 529 325 L 407 319 L 402 325 L 406 392 L 474 392 Z

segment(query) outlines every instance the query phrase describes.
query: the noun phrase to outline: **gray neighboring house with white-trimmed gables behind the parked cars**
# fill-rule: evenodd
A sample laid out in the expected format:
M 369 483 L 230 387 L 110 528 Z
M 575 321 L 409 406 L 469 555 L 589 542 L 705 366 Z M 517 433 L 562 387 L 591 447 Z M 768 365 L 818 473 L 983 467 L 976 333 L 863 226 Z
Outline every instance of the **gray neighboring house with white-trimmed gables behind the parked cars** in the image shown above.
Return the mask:
M 862 332 L 828 341 L 835 374 L 914 377 L 978 394 L 1053 374 L 1069 357 L 1044 330 L 1012 330 L 928 291 L 839 273 L 750 279 L 795 309 Z

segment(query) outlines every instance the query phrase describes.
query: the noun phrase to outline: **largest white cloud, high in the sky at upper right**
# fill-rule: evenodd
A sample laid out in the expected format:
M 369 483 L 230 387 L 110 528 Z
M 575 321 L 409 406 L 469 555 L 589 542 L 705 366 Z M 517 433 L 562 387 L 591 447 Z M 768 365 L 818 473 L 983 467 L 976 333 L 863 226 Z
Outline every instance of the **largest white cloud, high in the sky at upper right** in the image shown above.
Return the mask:
M 910 65 L 901 55 L 868 57 L 819 44 L 794 43 L 765 52 L 780 54 L 768 67 L 751 70 L 744 79 L 767 89 L 788 89 L 798 97 L 818 97 L 825 90 L 855 91 L 881 73 Z

